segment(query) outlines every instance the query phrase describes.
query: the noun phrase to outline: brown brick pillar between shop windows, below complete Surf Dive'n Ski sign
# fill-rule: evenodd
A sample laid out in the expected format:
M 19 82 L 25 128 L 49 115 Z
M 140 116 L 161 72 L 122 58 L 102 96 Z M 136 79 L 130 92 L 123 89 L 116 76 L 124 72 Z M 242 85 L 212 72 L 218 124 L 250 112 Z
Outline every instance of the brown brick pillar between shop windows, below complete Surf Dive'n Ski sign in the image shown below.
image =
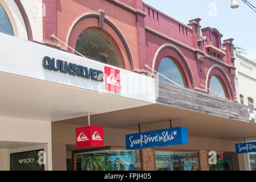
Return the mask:
M 155 171 L 155 151 L 154 148 L 145 148 L 142 152 L 142 170 L 143 171 Z

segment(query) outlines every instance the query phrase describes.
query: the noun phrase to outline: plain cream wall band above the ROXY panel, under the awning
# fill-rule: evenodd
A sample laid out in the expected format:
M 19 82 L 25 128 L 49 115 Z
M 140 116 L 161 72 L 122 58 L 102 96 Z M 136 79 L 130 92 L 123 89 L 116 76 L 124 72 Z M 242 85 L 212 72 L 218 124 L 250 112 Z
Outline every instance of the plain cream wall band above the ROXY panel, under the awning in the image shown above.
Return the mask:
M 0 117 L 0 141 L 51 143 L 51 122 Z

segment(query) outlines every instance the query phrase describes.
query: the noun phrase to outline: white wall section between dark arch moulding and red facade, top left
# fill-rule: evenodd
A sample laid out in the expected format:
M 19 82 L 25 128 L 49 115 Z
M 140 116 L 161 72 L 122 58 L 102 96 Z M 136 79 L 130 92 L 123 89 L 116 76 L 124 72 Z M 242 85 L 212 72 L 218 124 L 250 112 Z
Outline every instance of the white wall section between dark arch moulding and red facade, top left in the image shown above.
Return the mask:
M 12 0 L 10 0 L 12 1 Z M 33 39 L 43 42 L 43 2 L 42 0 L 20 0 L 30 20 Z

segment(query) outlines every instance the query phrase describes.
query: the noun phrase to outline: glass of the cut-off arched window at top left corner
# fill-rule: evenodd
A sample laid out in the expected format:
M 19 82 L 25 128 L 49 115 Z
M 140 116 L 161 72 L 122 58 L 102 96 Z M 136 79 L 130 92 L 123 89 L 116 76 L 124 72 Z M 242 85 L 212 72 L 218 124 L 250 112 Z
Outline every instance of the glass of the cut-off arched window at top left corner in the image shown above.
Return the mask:
M 5 34 L 14 35 L 13 27 L 11 26 L 10 19 L 3 9 L 3 6 L 0 3 L 0 32 Z

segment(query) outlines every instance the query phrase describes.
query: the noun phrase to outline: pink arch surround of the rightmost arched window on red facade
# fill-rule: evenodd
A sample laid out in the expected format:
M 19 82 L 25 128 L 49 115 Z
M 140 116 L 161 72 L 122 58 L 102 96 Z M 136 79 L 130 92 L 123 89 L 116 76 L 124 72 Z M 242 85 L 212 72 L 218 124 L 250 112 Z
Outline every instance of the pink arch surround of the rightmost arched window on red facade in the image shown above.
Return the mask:
M 205 84 L 207 88 L 209 88 L 210 80 L 212 79 L 213 76 L 216 76 L 218 80 L 221 82 L 221 85 L 224 89 L 226 97 L 229 98 L 229 100 L 234 100 L 233 89 L 230 84 L 229 78 L 226 75 L 225 71 L 218 65 L 213 65 L 207 73 L 207 79 L 205 80 Z M 208 94 L 209 94 L 209 90 L 208 90 Z

